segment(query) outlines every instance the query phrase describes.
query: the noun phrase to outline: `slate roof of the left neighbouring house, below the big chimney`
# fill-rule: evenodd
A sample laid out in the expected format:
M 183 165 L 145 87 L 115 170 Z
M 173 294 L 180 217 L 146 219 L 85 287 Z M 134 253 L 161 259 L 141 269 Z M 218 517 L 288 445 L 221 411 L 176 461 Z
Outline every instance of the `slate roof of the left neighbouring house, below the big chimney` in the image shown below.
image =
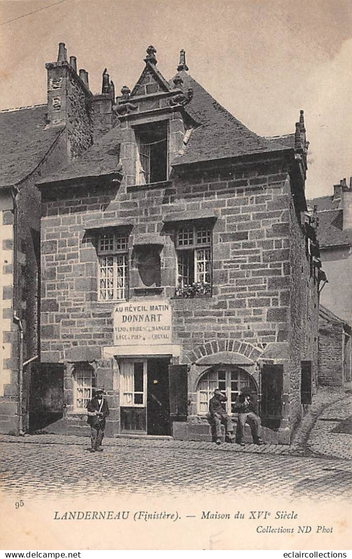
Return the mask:
M 28 177 L 63 127 L 45 130 L 46 105 L 0 111 L 0 188 Z

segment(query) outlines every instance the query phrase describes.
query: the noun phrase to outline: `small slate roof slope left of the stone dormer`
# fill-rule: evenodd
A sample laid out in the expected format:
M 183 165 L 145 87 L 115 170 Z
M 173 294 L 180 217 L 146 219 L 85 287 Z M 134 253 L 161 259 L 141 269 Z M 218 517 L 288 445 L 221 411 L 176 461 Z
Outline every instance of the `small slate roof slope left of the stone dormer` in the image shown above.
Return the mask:
M 121 172 L 122 165 L 119 163 L 120 135 L 121 129 L 116 126 L 101 138 L 98 138 L 95 144 L 73 162 L 60 169 L 59 172 L 42 178 L 37 184 L 67 181 L 81 177 L 100 177 Z

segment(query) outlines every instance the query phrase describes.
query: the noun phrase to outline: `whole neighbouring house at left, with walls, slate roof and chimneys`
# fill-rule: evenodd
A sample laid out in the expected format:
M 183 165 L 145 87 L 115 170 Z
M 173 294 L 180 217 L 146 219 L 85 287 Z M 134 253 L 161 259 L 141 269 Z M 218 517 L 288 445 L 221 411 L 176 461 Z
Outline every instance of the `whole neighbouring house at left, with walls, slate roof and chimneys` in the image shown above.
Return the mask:
M 76 58 L 71 56 L 68 63 L 63 43 L 58 62 L 46 64 L 46 69 L 45 105 L 0 111 L 0 432 L 4 433 L 29 427 L 31 377 L 37 375 L 40 192 L 35 182 L 81 154 L 113 119 L 114 87 L 106 73 L 105 93 L 93 96 L 88 73 L 79 70 L 77 75 Z

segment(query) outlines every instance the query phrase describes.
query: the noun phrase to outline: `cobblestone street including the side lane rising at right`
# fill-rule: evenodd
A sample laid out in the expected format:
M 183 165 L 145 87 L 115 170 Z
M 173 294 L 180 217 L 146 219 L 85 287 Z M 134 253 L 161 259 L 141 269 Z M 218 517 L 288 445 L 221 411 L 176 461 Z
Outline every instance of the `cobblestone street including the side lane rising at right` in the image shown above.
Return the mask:
M 106 438 L 104 452 L 91 454 L 87 437 L 0 435 L 2 487 L 16 498 L 231 489 L 344 500 L 352 487 L 352 435 L 340 426 L 350 414 L 350 395 L 318 391 L 291 446 Z

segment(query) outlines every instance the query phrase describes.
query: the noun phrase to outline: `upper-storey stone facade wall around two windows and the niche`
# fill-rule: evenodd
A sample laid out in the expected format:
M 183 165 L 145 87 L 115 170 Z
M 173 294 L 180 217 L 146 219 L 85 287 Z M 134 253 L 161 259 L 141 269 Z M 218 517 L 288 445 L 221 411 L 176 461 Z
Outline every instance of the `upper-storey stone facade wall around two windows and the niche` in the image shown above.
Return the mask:
M 270 172 L 272 169 L 272 173 Z M 72 345 L 112 344 L 114 304 L 97 301 L 97 256 L 90 222 L 133 219 L 134 236 L 160 233 L 162 296 L 173 307 L 173 342 L 184 352 L 229 337 L 252 344 L 287 339 L 289 286 L 289 182 L 273 164 L 246 172 L 231 169 L 176 178 L 158 188 L 72 188 L 46 194 L 42 219 L 42 352 L 58 361 Z M 282 170 L 282 172 L 280 172 Z M 265 174 L 266 172 L 266 174 Z M 100 209 L 100 210 L 99 210 Z M 213 210 L 213 296 L 175 296 L 176 254 L 169 212 Z M 130 261 L 132 258 L 130 258 Z M 134 277 L 132 268 L 130 277 Z M 130 297 L 137 300 L 135 285 Z M 46 352 L 50 352 L 49 354 Z M 54 353 L 52 353 L 54 352 Z

